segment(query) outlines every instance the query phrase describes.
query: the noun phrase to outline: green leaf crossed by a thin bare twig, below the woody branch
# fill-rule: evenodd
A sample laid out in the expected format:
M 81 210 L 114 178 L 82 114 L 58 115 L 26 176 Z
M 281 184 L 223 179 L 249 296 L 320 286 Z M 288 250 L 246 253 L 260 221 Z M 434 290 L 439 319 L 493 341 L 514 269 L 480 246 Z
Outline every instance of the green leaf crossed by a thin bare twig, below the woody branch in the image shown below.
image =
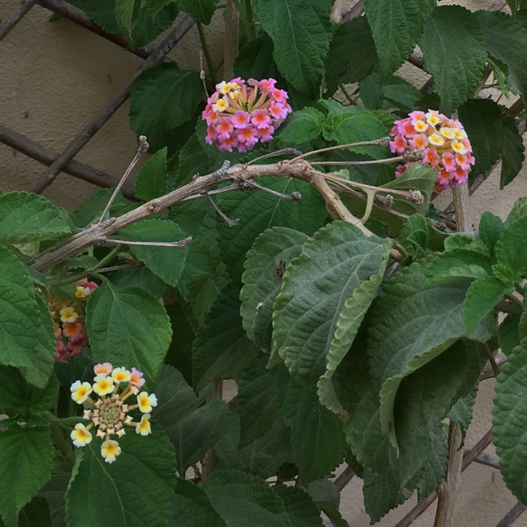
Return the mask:
M 186 233 L 174 221 L 150 218 L 120 230 L 119 237 L 131 242 L 178 242 L 186 238 Z M 131 245 L 130 252 L 164 282 L 178 285 L 186 262 L 185 247 Z

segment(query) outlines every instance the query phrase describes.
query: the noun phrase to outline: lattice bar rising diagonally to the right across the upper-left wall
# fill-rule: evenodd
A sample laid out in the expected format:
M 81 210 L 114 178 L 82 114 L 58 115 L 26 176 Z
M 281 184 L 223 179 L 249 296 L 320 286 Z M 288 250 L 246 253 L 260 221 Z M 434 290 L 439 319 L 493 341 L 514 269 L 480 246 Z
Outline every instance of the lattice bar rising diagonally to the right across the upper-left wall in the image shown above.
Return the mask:
M 64 164 L 70 161 L 77 153 L 88 143 L 88 141 L 96 134 L 96 132 L 105 124 L 105 122 L 114 115 L 114 113 L 120 108 L 124 101 L 129 98 L 130 95 L 130 86 L 134 79 L 138 77 L 141 73 L 147 70 L 149 67 L 157 64 L 164 57 L 167 56 L 169 51 L 171 51 L 174 46 L 180 41 L 183 36 L 190 30 L 190 27 L 193 27 L 195 20 L 186 16 L 179 22 L 179 24 L 172 30 L 169 35 L 161 42 L 155 51 L 145 60 L 145 62 L 138 67 L 134 75 L 131 77 L 126 86 L 123 86 L 122 89 L 110 100 L 110 102 L 100 110 L 98 115 L 89 122 L 84 129 L 82 129 L 76 138 L 70 142 L 69 145 L 63 150 L 63 152 L 58 155 L 55 161 L 51 166 L 41 174 L 36 183 L 30 189 L 30 192 L 41 193 L 48 185 L 53 182 L 53 179 L 56 178 L 57 174 L 61 171 Z

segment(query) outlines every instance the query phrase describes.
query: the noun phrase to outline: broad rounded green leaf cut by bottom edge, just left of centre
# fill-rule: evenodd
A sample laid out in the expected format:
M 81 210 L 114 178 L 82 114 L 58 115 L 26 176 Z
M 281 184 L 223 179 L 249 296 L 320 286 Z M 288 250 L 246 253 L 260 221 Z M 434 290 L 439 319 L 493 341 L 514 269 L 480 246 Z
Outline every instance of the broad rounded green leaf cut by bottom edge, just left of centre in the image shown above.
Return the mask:
M 235 470 L 215 471 L 202 488 L 228 526 L 291 527 L 282 500 L 258 476 Z

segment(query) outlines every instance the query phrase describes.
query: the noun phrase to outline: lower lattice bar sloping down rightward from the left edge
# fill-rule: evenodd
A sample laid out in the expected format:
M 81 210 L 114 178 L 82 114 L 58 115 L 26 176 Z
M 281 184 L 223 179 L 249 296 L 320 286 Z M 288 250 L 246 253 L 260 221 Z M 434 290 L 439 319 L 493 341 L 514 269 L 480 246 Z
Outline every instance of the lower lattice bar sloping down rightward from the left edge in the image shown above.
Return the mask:
M 22 136 L 22 134 L 18 134 L 18 132 L 3 124 L 0 124 L 0 143 L 4 143 L 4 145 L 8 145 L 47 166 L 51 165 L 58 156 L 58 153 L 51 150 L 51 148 L 46 148 L 44 145 Z M 67 162 L 63 167 L 63 171 L 103 188 L 115 187 L 119 183 L 118 178 L 75 160 Z M 134 189 L 131 186 L 123 188 L 122 193 L 129 199 L 134 199 Z

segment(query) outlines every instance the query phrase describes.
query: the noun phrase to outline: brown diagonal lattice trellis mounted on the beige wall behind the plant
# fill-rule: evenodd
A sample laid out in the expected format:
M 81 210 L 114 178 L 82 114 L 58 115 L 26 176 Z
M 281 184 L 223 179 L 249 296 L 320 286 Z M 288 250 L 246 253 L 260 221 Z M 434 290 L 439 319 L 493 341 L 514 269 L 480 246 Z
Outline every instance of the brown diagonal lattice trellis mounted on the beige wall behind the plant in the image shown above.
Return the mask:
M 34 183 L 30 189 L 34 193 L 41 193 L 45 188 L 47 188 L 53 180 L 56 178 L 61 171 L 66 172 L 76 178 L 82 179 L 89 183 L 93 183 L 96 186 L 100 187 L 115 187 L 119 183 L 118 178 L 106 174 L 104 171 L 100 171 L 96 168 L 84 164 L 77 160 L 74 160 L 74 157 L 79 153 L 80 150 L 90 141 L 90 139 L 100 130 L 100 128 L 105 124 L 105 122 L 112 117 L 112 115 L 117 112 L 120 106 L 126 101 L 129 97 L 129 88 L 134 79 L 145 71 L 148 67 L 160 63 L 162 60 L 167 59 L 167 54 L 171 51 L 176 44 L 183 38 L 183 36 L 193 27 L 195 21 L 186 16 L 180 22 L 178 22 L 175 27 L 173 27 L 167 37 L 165 37 L 157 47 L 142 46 L 140 48 L 129 48 L 128 42 L 122 39 L 122 37 L 117 37 L 115 35 L 110 35 L 103 30 L 100 30 L 87 16 L 86 14 L 67 4 L 63 0 L 22 0 L 20 4 L 16 6 L 13 12 L 8 15 L 7 18 L 0 24 L 0 41 L 6 37 L 6 34 L 10 32 L 15 25 L 22 20 L 24 15 L 30 11 L 30 9 L 38 4 L 53 13 L 56 13 L 63 18 L 67 18 L 72 22 L 75 22 L 78 25 L 90 30 L 91 32 L 98 34 L 100 37 L 112 41 L 117 46 L 126 48 L 130 53 L 134 53 L 136 56 L 139 56 L 144 59 L 143 64 L 139 67 L 136 72 L 131 76 L 129 82 L 127 82 L 122 89 L 110 100 L 110 102 L 105 105 L 104 108 L 98 112 L 96 117 L 94 117 L 91 122 L 86 124 L 82 130 L 79 131 L 77 136 L 75 136 L 72 141 L 67 145 L 67 147 L 62 152 L 54 152 L 53 150 L 46 148 L 44 145 L 33 141 L 30 138 L 19 134 L 17 131 L 5 126 L 0 123 L 0 142 L 8 145 L 9 147 L 22 152 L 28 157 L 37 160 L 41 164 L 45 165 L 47 169 L 39 176 L 37 181 Z M 339 2 L 335 2 L 335 6 L 339 5 Z M 363 13 L 364 1 L 359 0 L 354 4 L 348 11 L 344 13 L 333 13 L 334 18 L 337 18 L 339 21 L 349 20 L 355 18 Z M 504 0 L 496 0 L 493 5 L 490 7 L 491 10 L 502 10 L 505 8 L 506 2 Z M 417 53 L 412 53 L 412 56 L 408 59 L 412 65 L 422 69 L 423 60 L 422 57 L 417 55 Z M 422 91 L 427 91 L 431 86 L 430 82 L 427 82 L 423 87 Z M 507 115 L 512 117 L 517 117 L 525 108 L 521 100 L 517 100 L 508 110 Z M 521 134 L 525 132 L 524 123 L 520 123 L 519 130 Z M 472 194 L 474 191 L 479 188 L 483 182 L 484 177 L 482 175 L 477 176 L 476 180 L 472 184 L 469 193 Z M 122 188 L 123 194 L 133 199 L 134 190 L 126 184 Z M 450 204 L 444 211 L 445 219 L 449 219 L 454 212 L 453 204 Z M 499 365 L 500 361 L 506 360 L 504 357 L 497 358 L 496 363 Z M 494 377 L 495 372 L 492 371 L 492 368 L 488 367 L 483 371 L 481 375 L 481 380 L 487 379 L 489 377 Z M 499 469 L 499 464 L 495 457 L 486 455 L 483 453 L 490 442 L 492 441 L 492 431 L 489 430 L 481 439 L 474 445 L 474 447 L 465 450 L 462 461 L 462 471 L 467 469 L 472 462 L 479 462 L 488 467 L 493 467 Z M 353 478 L 354 473 L 351 468 L 346 468 L 338 477 L 335 479 L 334 483 L 339 490 L 342 490 L 349 481 Z M 406 514 L 401 521 L 399 521 L 395 527 L 408 527 L 410 524 L 415 521 L 438 497 L 438 492 L 434 491 L 429 496 L 424 498 L 419 502 L 408 514 Z M 512 509 L 507 512 L 507 514 L 496 524 L 495 527 L 508 527 L 512 526 L 514 521 L 519 518 L 519 516 L 525 511 L 527 507 L 520 502 L 517 502 Z

